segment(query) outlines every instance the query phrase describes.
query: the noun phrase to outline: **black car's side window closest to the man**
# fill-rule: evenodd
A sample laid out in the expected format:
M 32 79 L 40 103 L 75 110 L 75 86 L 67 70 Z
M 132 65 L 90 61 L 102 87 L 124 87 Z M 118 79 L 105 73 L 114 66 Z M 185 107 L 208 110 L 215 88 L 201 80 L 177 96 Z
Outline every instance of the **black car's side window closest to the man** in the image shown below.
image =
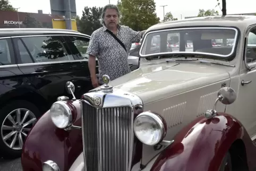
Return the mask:
M 89 55 L 86 52 L 90 39 L 80 36 L 69 36 L 69 39 L 69 45 L 73 55 L 78 59 L 89 59 Z

